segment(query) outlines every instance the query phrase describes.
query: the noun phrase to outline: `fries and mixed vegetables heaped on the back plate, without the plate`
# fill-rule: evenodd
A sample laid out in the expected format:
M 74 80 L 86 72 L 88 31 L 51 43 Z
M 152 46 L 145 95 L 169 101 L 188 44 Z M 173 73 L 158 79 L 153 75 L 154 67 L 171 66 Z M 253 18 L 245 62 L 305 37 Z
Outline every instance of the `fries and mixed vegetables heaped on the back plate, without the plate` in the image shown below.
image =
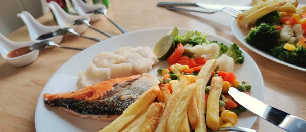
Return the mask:
M 254 6 L 250 11 L 258 15 L 248 17 L 252 22 L 244 23 L 251 28 L 245 42 L 280 60 L 306 68 L 306 7 L 296 9 L 296 6 L 297 3 L 286 1 Z M 241 19 L 246 17 L 237 18 L 240 24 Z

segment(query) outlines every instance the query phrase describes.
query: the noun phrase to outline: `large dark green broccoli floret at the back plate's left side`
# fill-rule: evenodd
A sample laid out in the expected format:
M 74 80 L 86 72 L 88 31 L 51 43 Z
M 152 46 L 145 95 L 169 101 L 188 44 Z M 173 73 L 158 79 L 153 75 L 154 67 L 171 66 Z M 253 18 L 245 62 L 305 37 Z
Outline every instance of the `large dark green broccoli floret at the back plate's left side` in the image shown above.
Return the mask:
M 281 37 L 281 31 L 276 30 L 275 26 L 262 23 L 260 26 L 251 29 L 245 38 L 245 42 L 269 52 L 270 49 L 279 44 L 279 37 Z

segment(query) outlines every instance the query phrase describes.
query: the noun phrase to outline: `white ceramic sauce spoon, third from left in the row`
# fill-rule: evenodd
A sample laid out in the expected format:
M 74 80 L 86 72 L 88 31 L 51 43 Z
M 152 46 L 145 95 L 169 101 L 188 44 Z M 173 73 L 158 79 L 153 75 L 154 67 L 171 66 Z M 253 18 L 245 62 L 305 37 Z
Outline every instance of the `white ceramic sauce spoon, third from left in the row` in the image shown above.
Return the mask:
M 58 5 L 56 2 L 51 1 L 48 3 L 49 7 L 51 8 L 51 10 L 53 11 L 56 20 L 59 24 L 59 26 L 61 28 L 65 28 L 65 27 L 72 27 L 74 29 L 75 32 L 78 32 L 79 34 L 83 34 L 83 32 L 85 32 L 88 29 L 88 26 L 83 24 L 83 25 L 73 25 L 71 23 L 73 23 L 75 20 L 78 19 L 86 19 L 88 21 L 90 21 L 89 16 L 86 15 L 80 15 L 80 16 L 75 16 L 75 15 L 70 15 L 67 12 L 65 12 L 60 5 Z

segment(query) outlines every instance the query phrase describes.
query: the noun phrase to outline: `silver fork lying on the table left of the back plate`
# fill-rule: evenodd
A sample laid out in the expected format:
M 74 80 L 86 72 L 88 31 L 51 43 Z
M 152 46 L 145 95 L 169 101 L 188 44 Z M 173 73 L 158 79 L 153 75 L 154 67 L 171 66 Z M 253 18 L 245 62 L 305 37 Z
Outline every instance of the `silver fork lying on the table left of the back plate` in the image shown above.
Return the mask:
M 205 11 L 198 11 L 198 10 L 191 10 L 191 9 L 185 9 L 185 8 L 179 8 L 179 7 L 167 7 L 168 10 L 174 10 L 174 11 L 187 11 L 187 12 L 200 12 L 200 13 L 215 13 L 215 12 L 224 12 L 226 14 L 229 14 L 235 18 L 238 17 L 238 14 L 241 13 L 241 11 L 235 10 L 233 8 L 224 7 L 220 10 L 205 10 Z

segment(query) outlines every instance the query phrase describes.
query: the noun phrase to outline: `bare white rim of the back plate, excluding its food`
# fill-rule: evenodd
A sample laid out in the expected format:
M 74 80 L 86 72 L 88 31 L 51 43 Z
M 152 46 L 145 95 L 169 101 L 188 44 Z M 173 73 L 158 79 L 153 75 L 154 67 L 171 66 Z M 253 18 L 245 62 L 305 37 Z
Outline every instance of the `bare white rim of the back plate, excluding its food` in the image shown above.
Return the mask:
M 266 57 L 272 61 L 275 61 L 277 63 L 280 63 L 280 64 L 284 64 L 288 67 L 291 67 L 291 68 L 294 68 L 294 69 L 298 69 L 298 70 L 301 70 L 301 71 L 305 71 L 306 72 L 306 69 L 305 68 L 302 68 L 302 67 L 298 67 L 297 65 L 294 65 L 294 64 L 290 64 L 290 63 L 287 63 L 285 61 L 282 61 L 282 60 L 279 60 L 278 58 L 275 58 L 274 56 L 272 56 L 271 54 L 268 54 L 264 51 L 261 51 L 257 48 L 255 48 L 254 46 L 246 43 L 244 41 L 245 39 L 245 36 L 248 34 L 248 30 L 247 29 L 242 29 L 239 27 L 239 25 L 237 24 L 236 22 L 236 18 L 232 17 L 231 19 L 231 29 L 234 33 L 234 35 L 236 36 L 236 38 L 244 45 L 246 46 L 247 48 L 249 48 L 250 50 L 254 51 L 255 53 L 258 53 L 259 55 L 263 56 L 263 57 Z

